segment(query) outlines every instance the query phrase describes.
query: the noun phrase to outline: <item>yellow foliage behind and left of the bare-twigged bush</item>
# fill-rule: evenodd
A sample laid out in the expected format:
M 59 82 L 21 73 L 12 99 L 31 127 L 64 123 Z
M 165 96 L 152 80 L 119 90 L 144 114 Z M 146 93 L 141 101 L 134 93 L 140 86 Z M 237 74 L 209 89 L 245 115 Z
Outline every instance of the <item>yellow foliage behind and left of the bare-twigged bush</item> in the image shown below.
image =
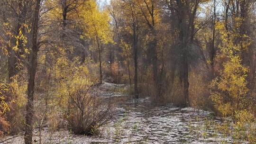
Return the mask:
M 65 110 L 68 107 L 70 91 L 73 91 L 77 85 L 90 86 L 92 84 L 88 73 L 87 67 L 80 64 L 79 58 L 73 62 L 65 57 L 58 58 L 52 72 L 55 78 L 53 83 L 55 97 L 51 105 L 57 105 L 59 110 Z

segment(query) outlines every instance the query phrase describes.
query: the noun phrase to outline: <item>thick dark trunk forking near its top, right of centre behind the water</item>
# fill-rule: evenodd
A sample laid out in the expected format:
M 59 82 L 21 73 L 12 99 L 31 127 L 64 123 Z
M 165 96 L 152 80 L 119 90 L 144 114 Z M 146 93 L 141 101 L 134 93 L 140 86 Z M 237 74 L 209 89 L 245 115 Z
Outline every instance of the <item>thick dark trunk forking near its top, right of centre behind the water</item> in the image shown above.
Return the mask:
M 181 105 L 189 105 L 189 46 L 193 44 L 194 19 L 200 0 L 182 1 L 176 0 L 177 4 L 177 28 L 179 30 L 179 47 L 181 49 L 181 72 L 180 78 L 183 85 L 184 100 Z M 189 19 L 189 20 L 187 20 Z

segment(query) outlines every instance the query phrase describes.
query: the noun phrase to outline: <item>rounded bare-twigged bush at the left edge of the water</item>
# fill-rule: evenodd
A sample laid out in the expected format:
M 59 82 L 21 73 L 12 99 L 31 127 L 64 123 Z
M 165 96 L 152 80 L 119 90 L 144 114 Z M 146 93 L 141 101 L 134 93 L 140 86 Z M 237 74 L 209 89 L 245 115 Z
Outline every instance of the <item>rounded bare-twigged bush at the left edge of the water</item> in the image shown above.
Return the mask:
M 75 134 L 90 135 L 110 119 L 111 103 L 91 95 L 93 87 L 77 84 L 69 91 L 70 106 L 65 117 Z

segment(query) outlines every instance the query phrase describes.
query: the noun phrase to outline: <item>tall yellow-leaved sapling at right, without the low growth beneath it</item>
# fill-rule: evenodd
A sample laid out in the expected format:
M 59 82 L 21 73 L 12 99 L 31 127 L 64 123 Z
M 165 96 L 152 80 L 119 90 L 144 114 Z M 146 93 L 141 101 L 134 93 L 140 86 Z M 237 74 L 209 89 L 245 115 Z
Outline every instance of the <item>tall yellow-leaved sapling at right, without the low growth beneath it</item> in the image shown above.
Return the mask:
M 211 99 L 215 103 L 215 108 L 223 116 L 233 115 L 236 110 L 245 108 L 244 101 L 247 101 L 246 95 L 248 69 L 242 64 L 241 51 L 249 44 L 245 36 L 240 36 L 237 28 L 240 26 L 240 19 L 237 18 L 237 24 L 234 29 L 227 31 L 223 23 L 217 23 L 216 29 L 221 34 L 222 45 L 219 45 L 221 57 L 228 58 L 222 65 L 220 76 L 211 82 Z M 243 41 L 243 45 L 238 41 Z M 245 43 L 247 42 L 247 43 Z

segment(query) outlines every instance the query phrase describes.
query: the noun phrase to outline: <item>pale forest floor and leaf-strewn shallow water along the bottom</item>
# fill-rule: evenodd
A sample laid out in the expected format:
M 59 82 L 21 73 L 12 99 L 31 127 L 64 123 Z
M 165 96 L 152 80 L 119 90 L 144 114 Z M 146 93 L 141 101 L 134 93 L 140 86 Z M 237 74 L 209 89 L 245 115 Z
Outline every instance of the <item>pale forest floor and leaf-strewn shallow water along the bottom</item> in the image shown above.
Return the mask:
M 52 133 L 46 126 L 41 131 L 41 144 L 216 144 L 216 141 L 230 141 L 220 134 L 214 136 L 213 128 L 205 126 L 205 117 L 210 112 L 173 105 L 151 106 L 148 97 L 133 99 L 127 93 L 117 92 L 126 87 L 107 82 L 99 86 L 98 94 L 118 99 L 113 119 L 99 128 L 99 135 L 74 135 L 66 130 Z M 3 140 L 6 139 L 9 140 L 0 144 L 23 144 L 23 135 Z M 39 130 L 35 129 L 35 144 L 40 144 L 39 139 Z

